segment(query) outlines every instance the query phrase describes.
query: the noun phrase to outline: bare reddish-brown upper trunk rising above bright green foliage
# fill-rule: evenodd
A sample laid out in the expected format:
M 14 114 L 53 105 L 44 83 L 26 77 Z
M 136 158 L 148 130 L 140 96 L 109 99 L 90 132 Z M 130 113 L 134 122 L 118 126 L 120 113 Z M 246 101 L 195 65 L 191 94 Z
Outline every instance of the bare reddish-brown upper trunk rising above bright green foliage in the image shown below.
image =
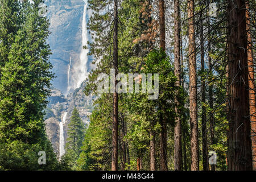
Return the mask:
M 160 47 L 166 51 L 166 28 L 164 19 L 164 0 L 159 0 L 159 27 L 160 27 Z

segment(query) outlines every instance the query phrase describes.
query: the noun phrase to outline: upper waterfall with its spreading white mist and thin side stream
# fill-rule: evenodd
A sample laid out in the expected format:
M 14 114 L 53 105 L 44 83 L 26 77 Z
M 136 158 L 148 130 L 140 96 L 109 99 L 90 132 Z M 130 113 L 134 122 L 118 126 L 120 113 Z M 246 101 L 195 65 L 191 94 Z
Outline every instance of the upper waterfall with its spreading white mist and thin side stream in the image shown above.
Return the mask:
M 84 0 L 84 13 L 82 15 L 82 42 L 81 42 L 81 52 L 79 56 L 79 61 L 73 63 L 71 67 L 71 61 L 69 61 L 68 66 L 68 88 L 67 94 L 69 91 L 79 88 L 81 83 L 88 77 L 88 31 L 87 31 L 87 0 Z M 86 47 L 84 49 L 83 47 Z M 72 68 L 72 71 L 70 70 Z M 71 74 L 72 73 L 72 74 Z M 70 75 L 71 74 L 71 75 Z

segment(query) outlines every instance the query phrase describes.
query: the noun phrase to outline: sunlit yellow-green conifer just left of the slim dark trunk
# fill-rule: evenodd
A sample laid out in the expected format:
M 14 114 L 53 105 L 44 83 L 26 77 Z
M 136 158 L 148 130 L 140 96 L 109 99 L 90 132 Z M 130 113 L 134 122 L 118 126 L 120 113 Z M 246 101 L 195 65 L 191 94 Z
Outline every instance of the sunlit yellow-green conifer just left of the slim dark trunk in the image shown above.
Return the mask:
M 86 129 L 81 154 L 77 160 L 78 169 L 111 170 L 112 156 L 112 100 L 108 96 L 98 98 L 90 115 L 90 125 Z

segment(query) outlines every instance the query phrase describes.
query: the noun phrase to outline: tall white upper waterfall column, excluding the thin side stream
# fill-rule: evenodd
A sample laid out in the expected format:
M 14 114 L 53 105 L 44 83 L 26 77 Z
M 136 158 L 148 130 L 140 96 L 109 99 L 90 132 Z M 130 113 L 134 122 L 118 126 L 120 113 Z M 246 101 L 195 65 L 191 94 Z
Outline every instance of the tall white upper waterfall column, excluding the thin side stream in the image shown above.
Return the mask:
M 86 76 L 88 76 L 87 72 L 87 62 L 88 62 L 88 56 L 87 53 L 89 52 L 88 49 L 88 36 L 87 36 L 87 20 L 86 20 L 86 11 L 87 11 L 87 0 L 84 0 L 84 13 L 82 15 L 82 47 L 81 47 L 81 53 L 80 53 L 80 64 L 78 65 L 78 70 L 76 72 L 76 88 L 79 88 L 81 83 L 85 80 Z M 83 47 L 86 46 L 86 49 Z

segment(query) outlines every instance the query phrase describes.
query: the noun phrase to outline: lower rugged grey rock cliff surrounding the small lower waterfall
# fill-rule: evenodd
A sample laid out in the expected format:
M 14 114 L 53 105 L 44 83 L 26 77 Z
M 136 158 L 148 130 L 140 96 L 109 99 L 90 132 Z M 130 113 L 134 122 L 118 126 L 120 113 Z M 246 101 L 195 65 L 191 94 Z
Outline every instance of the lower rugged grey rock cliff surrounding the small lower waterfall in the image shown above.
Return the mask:
M 52 88 L 51 97 L 48 98 L 48 106 L 46 109 L 46 133 L 51 140 L 53 149 L 56 154 L 59 154 L 59 123 L 63 119 L 64 113 L 67 112 L 67 117 L 63 126 L 64 139 L 67 139 L 68 124 L 71 121 L 71 115 L 74 107 L 79 110 L 80 117 L 85 126 L 89 125 L 89 115 L 92 114 L 94 96 L 85 96 L 83 93 L 85 82 L 80 88 L 64 97 L 60 90 Z

